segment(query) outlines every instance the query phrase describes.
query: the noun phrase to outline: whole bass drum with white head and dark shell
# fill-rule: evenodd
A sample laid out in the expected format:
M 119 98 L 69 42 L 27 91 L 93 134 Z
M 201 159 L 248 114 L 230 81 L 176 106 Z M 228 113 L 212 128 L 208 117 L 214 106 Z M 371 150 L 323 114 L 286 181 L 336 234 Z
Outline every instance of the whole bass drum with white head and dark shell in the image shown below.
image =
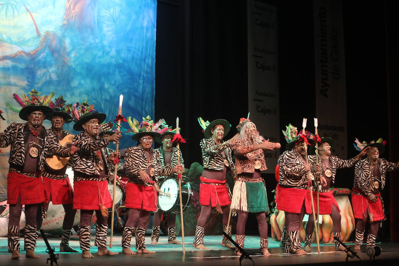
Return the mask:
M 161 192 L 158 195 L 158 207 L 162 211 L 180 214 L 179 183 L 176 181 L 176 177 L 166 178 L 160 184 L 159 189 Z M 182 181 L 183 211 L 190 205 L 192 195 L 190 183 Z

